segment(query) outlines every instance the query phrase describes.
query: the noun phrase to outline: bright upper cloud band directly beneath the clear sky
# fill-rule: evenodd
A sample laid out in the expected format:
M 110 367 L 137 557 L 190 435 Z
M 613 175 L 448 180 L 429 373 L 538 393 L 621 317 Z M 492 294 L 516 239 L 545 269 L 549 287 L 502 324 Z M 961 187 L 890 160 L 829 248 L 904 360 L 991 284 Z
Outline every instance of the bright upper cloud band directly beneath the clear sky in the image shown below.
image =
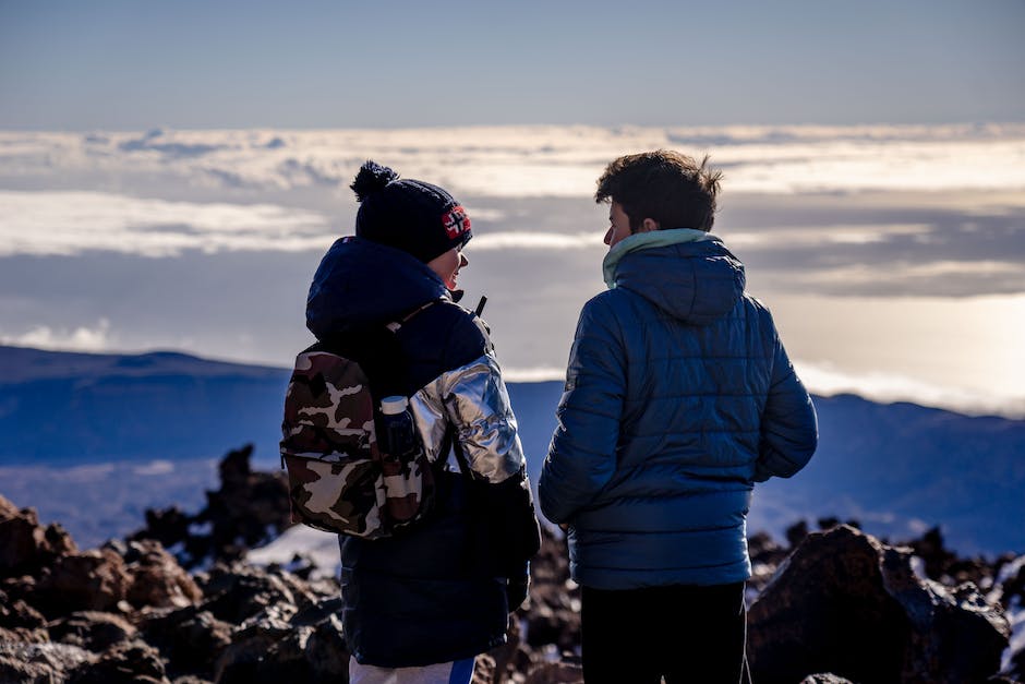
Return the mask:
M 470 195 L 586 196 L 610 160 L 659 147 L 711 154 L 734 192 L 1025 189 L 1025 124 L 0 132 L 0 177 L 93 173 L 226 190 L 330 190 L 375 158 Z

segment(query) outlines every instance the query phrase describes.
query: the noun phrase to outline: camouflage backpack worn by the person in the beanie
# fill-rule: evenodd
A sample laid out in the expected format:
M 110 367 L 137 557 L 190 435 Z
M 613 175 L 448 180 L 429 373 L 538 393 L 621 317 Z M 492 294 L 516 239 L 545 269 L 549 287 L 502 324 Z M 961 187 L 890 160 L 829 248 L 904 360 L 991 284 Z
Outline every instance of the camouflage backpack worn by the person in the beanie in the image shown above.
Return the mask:
M 397 388 L 403 380 L 396 340 L 401 323 L 317 343 L 296 358 L 280 445 L 292 521 L 379 539 L 430 512 L 434 472 L 419 435 L 407 458 L 389 457 L 377 442 L 381 397 L 406 394 Z

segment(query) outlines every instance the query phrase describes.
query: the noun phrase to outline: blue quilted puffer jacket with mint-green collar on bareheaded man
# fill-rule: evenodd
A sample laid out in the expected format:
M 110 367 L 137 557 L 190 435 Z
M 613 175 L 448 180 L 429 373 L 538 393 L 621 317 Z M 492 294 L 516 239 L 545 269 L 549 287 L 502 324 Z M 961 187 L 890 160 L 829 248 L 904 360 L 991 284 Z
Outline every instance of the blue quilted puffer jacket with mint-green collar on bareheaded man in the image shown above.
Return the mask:
M 811 457 L 811 399 L 718 238 L 630 236 L 605 275 L 612 289 L 580 314 L 541 509 L 569 524 L 588 587 L 747 579 L 753 482 Z

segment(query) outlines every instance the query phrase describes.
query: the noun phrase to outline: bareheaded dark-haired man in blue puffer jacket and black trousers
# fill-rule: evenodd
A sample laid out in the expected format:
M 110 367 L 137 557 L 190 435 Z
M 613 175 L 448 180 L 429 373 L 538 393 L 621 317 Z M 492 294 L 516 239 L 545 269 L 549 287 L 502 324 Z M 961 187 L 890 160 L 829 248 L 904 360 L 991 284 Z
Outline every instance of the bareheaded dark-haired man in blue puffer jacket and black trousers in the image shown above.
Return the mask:
M 740 681 L 753 483 L 818 442 L 772 315 L 709 232 L 707 161 L 627 155 L 598 182 L 608 289 L 580 313 L 538 483 L 581 585 L 589 684 Z

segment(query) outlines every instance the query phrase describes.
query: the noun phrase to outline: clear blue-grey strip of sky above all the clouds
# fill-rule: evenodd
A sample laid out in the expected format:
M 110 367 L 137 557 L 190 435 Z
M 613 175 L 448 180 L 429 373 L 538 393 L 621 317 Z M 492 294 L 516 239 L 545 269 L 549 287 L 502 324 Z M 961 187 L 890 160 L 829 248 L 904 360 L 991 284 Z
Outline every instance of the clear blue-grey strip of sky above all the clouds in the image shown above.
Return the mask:
M 0 129 L 953 123 L 1021 0 L 0 0 Z

